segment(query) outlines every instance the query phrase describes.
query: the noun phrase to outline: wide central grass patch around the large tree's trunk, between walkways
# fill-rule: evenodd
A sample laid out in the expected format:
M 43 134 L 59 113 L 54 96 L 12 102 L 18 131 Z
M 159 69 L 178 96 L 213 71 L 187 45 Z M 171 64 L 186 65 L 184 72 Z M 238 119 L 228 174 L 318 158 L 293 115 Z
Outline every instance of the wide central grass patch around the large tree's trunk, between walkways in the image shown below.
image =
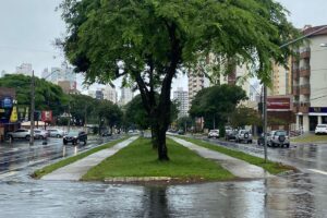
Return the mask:
M 125 177 L 169 177 L 190 180 L 230 180 L 229 171 L 217 162 L 199 157 L 190 149 L 167 138 L 169 161 L 157 160 L 157 150 L 150 140 L 138 138 L 98 166 L 92 168 L 82 180 L 105 180 Z

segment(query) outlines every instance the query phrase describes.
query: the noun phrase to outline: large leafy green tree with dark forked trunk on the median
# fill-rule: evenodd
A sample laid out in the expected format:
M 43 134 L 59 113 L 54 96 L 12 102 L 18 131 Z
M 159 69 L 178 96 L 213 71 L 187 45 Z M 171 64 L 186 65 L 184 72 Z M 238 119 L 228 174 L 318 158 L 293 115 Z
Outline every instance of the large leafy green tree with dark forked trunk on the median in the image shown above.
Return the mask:
M 160 160 L 169 159 L 170 88 L 179 70 L 213 53 L 256 65 L 268 82 L 271 60 L 283 63 L 290 53 L 279 46 L 295 33 L 274 0 L 64 0 L 61 8 L 68 59 L 88 83 L 136 83 Z

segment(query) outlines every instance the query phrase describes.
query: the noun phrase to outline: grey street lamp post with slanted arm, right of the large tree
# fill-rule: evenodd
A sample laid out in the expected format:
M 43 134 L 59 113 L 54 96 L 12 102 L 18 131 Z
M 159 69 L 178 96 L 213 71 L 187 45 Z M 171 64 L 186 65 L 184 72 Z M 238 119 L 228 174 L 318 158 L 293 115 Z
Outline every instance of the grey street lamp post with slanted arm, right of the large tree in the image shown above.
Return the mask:
M 310 34 L 306 34 L 306 35 L 295 38 L 289 43 L 286 43 L 286 44 L 281 45 L 279 48 L 280 49 L 286 48 L 286 47 L 293 45 L 304 38 L 307 38 L 308 36 L 312 36 L 313 34 L 319 33 L 325 29 L 327 29 L 327 25 L 323 26 L 322 28 L 318 28 L 317 31 L 314 31 Z M 320 46 L 327 47 L 327 44 L 322 44 Z M 263 108 L 263 111 L 264 111 L 264 148 L 265 148 L 265 162 L 267 162 L 267 159 L 268 159 L 268 155 L 267 155 L 267 84 L 264 83 L 263 85 L 264 85 L 264 105 L 263 105 L 263 107 L 264 107 Z

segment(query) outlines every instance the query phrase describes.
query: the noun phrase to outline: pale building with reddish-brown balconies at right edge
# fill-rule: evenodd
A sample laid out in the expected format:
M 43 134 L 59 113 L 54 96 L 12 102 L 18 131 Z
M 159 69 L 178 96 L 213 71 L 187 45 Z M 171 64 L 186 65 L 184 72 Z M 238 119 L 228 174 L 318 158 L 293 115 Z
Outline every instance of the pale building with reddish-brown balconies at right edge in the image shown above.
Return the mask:
M 324 26 L 305 26 L 303 34 L 311 34 Z M 319 123 L 327 123 L 327 29 L 308 37 L 292 58 L 293 109 L 296 126 L 314 131 Z

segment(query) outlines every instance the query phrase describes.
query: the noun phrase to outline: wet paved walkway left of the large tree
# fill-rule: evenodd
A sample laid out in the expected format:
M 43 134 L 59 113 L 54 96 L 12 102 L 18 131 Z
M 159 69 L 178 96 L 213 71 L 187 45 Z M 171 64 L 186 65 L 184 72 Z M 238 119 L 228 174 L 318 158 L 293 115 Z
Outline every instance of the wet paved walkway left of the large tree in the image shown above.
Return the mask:
M 78 181 L 90 168 L 97 166 L 106 158 L 114 155 L 120 149 L 130 145 L 138 136 L 130 137 L 126 141 L 118 143 L 111 148 L 102 149 L 97 153 L 94 153 L 83 159 L 80 159 L 71 165 L 62 167 L 53 172 L 46 174 L 41 180 L 71 180 Z

